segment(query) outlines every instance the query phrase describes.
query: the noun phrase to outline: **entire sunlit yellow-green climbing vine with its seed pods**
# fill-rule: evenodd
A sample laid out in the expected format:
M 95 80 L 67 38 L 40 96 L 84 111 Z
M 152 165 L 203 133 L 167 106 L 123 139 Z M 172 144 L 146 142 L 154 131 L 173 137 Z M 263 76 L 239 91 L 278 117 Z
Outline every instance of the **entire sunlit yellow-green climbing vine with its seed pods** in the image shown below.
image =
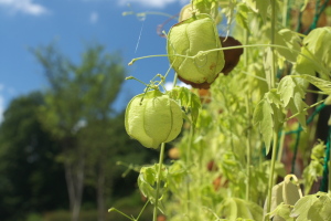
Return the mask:
M 313 2 L 307 25 L 302 14 Z M 126 114 L 132 138 L 160 146 L 159 162 L 138 178 L 153 221 L 161 213 L 171 221 L 330 220 L 328 118 L 320 116 L 327 136 L 316 134 L 331 104 L 331 28 L 318 27 L 330 3 L 313 2 L 192 0 L 181 10 L 164 34 L 164 56 L 175 81 L 193 88 L 162 93 L 168 70 Z M 164 143 L 178 150 L 171 164 L 163 164 Z M 318 180 L 320 191 L 311 191 Z

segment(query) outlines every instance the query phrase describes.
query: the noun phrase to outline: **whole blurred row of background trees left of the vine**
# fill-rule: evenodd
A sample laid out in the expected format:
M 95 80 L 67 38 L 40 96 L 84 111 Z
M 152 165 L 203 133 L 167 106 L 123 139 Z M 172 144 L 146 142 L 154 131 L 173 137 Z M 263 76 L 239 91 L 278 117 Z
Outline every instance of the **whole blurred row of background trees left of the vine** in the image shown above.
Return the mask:
M 129 139 L 124 113 L 113 107 L 126 76 L 120 55 L 94 44 L 75 64 L 54 44 L 31 52 L 49 87 L 13 99 L 4 113 L 0 220 L 70 209 L 71 220 L 77 221 L 82 204 L 89 204 L 104 221 L 109 203 L 136 189 L 137 173 L 122 179 L 126 168 L 116 162 L 157 158 Z

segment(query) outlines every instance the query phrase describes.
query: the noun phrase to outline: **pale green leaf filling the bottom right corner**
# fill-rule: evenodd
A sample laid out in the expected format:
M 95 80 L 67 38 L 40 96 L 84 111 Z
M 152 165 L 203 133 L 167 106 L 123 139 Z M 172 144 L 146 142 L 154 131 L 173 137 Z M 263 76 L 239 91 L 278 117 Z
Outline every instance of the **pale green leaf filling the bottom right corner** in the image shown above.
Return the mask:
M 331 194 L 318 192 L 301 198 L 290 213 L 296 221 L 330 221 Z

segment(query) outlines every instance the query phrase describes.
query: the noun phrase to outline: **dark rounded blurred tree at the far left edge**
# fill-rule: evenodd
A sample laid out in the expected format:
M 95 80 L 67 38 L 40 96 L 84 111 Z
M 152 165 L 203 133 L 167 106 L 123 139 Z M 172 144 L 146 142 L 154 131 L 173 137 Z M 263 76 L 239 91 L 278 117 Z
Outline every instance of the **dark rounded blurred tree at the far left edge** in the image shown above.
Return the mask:
M 65 207 L 60 147 L 42 129 L 39 92 L 13 99 L 0 126 L 0 220 L 23 220 L 30 212 Z M 50 191 L 52 190 L 52 191 Z

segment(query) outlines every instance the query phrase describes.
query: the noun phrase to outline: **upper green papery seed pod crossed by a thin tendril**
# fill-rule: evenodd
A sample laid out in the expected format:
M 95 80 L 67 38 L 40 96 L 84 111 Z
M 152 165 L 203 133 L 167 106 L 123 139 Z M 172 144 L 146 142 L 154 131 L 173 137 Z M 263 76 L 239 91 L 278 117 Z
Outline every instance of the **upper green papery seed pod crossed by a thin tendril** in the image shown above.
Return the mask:
M 202 52 L 221 46 L 215 22 L 209 14 L 196 14 L 174 24 L 168 33 L 167 50 L 172 69 L 180 78 L 194 84 L 210 84 L 217 77 L 225 63 L 223 51 Z M 184 57 L 196 54 L 195 59 Z

